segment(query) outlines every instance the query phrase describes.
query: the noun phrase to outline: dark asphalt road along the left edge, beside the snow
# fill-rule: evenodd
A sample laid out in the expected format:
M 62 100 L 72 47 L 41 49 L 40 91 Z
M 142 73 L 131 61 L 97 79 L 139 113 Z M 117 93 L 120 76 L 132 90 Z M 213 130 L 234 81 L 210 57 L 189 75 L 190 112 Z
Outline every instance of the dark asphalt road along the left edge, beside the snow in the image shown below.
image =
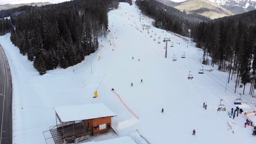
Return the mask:
M 4 51 L 0 45 L 0 144 L 12 144 L 12 83 Z

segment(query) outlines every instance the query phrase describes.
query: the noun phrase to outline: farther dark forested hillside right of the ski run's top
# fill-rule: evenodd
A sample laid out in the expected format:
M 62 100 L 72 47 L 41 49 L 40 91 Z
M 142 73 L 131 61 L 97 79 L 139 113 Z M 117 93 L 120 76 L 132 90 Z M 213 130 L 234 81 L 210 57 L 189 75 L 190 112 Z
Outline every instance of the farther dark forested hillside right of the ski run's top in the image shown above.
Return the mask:
M 156 28 L 182 36 L 189 36 L 188 29 L 193 24 L 210 20 L 210 18 L 199 14 L 186 14 L 186 12 L 181 12 L 156 0 L 136 0 L 136 5 L 143 14 L 155 20 L 154 26 Z

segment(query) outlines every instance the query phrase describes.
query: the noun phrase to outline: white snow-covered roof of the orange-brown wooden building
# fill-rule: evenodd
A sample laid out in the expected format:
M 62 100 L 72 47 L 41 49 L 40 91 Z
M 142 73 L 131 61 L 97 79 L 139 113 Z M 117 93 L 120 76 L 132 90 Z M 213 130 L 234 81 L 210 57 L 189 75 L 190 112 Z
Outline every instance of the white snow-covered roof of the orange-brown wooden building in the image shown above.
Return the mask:
M 102 103 L 73 106 L 58 106 L 54 107 L 54 110 L 58 114 L 62 122 L 116 116 L 116 114 L 112 112 L 112 110 L 110 110 Z

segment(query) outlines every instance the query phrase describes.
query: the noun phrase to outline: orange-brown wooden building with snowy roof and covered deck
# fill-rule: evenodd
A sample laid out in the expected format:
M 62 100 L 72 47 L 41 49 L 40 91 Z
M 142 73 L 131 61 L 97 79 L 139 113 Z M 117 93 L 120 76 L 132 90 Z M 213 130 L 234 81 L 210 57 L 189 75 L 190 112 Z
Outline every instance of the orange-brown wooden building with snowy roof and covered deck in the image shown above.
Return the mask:
M 111 120 L 116 116 L 102 103 L 54 107 L 56 129 L 50 130 L 55 144 L 74 140 L 79 142 L 111 129 Z M 57 119 L 60 124 L 57 124 Z

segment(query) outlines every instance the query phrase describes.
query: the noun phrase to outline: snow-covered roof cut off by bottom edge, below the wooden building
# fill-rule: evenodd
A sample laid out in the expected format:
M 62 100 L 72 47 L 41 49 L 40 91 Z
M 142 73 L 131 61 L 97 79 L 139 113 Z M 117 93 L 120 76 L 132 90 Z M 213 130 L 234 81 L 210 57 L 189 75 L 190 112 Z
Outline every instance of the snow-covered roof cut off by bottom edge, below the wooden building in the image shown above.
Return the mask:
M 136 144 L 129 136 L 123 136 L 120 138 L 113 138 L 110 140 L 102 140 L 99 142 L 86 142 L 82 144 Z

